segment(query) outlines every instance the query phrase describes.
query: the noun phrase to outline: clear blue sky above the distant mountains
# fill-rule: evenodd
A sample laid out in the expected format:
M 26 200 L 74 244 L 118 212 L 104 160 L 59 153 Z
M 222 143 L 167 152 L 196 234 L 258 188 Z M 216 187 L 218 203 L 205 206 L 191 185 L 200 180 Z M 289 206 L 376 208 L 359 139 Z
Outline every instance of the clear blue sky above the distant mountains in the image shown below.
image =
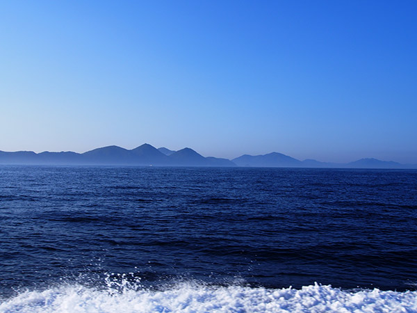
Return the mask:
M 417 1 L 0 1 L 0 150 L 417 163 Z

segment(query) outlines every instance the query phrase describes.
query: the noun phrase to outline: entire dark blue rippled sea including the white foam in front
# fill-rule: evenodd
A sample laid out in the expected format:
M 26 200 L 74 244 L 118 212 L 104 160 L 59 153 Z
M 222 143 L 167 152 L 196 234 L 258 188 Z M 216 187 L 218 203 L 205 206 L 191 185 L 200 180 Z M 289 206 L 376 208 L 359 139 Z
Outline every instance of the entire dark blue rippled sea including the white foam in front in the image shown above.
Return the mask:
M 0 312 L 417 312 L 417 170 L 0 166 Z

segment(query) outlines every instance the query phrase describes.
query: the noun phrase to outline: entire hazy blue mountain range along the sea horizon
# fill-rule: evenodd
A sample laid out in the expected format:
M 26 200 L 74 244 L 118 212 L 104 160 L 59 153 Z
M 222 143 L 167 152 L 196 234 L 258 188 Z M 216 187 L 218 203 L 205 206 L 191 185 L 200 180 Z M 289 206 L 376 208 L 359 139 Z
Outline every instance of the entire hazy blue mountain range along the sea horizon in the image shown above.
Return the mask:
M 252 156 L 244 154 L 236 159 L 203 157 L 188 147 L 174 151 L 166 147 L 156 149 L 145 143 L 132 150 L 116 145 L 100 147 L 84 153 L 0 151 L 0 164 L 37 165 L 115 165 L 115 166 L 247 166 L 274 168 L 417 168 L 417 164 L 400 164 L 377 159 L 360 159 L 350 163 L 326 163 L 313 159 L 300 161 L 285 154 L 272 152 Z

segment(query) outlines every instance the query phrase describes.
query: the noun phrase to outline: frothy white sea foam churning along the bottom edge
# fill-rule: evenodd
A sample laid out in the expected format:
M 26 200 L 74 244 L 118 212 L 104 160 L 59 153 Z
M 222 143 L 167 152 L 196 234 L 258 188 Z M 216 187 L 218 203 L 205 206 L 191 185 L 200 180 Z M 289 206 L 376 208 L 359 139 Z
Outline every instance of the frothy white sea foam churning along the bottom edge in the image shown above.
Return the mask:
M 1 301 L 0 312 L 417 312 L 417 291 L 343 291 L 179 284 L 164 291 L 99 291 L 81 285 L 26 291 Z

